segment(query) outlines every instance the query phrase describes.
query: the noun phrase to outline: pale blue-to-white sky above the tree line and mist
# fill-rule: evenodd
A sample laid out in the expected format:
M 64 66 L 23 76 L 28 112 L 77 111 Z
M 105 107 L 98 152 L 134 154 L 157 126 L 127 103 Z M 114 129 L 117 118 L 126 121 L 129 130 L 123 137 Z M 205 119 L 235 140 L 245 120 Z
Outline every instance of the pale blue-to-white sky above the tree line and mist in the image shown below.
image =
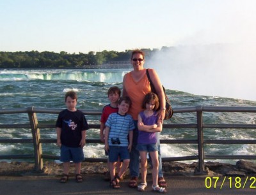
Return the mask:
M 254 0 L 0 0 L 0 51 L 72 54 L 255 41 L 255 20 Z

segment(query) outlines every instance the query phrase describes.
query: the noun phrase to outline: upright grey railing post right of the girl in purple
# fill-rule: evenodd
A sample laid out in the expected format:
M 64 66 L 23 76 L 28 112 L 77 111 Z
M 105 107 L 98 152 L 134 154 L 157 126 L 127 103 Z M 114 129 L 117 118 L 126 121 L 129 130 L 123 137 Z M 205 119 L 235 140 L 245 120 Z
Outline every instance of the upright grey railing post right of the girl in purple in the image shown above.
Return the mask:
M 203 133 L 203 108 L 196 106 L 197 137 L 198 137 L 198 173 L 204 174 L 204 133 Z

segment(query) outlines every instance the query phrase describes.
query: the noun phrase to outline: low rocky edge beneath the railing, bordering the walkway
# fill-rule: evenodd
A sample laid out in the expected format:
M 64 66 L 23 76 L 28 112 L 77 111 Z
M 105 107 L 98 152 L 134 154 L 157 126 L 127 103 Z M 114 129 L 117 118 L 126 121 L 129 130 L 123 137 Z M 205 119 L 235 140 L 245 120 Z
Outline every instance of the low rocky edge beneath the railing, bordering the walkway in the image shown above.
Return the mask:
M 198 163 L 178 163 L 178 162 L 164 162 L 164 175 L 195 177 L 196 175 L 203 176 L 229 176 L 229 177 L 245 177 L 248 175 L 255 175 L 256 164 L 250 161 L 237 161 L 236 164 L 206 162 L 205 173 L 200 174 L 197 171 Z M 106 163 L 88 163 L 82 164 L 82 174 L 104 174 L 108 170 Z M 46 161 L 44 162 L 44 170 L 39 173 L 34 170 L 33 163 L 17 162 L 12 163 L 0 162 L 0 176 L 23 176 L 23 175 L 51 175 L 59 176 L 63 173 L 62 164 Z M 70 173 L 74 173 L 74 165 L 70 166 Z M 150 173 L 150 168 L 148 168 Z M 129 176 L 129 171 L 125 177 Z

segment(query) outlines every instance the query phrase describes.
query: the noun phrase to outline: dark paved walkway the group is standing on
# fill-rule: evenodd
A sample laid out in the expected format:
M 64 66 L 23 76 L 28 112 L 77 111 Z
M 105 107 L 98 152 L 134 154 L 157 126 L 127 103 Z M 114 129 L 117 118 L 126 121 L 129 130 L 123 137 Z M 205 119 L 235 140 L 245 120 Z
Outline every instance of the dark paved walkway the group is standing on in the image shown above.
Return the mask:
M 109 187 L 109 182 L 104 181 L 103 175 L 84 175 L 83 183 L 77 184 L 74 177 L 70 177 L 67 184 L 60 184 L 59 177 L 54 176 L 1 176 L 0 177 L 0 194 L 157 194 L 152 191 L 151 175 L 148 175 L 148 187 L 146 192 L 138 192 L 136 189 L 128 187 L 128 179 L 121 183 L 121 188 L 116 190 Z M 256 182 L 253 177 L 249 177 L 246 185 L 239 184 L 235 187 L 235 180 L 220 178 L 216 182 L 213 178 L 207 179 L 207 187 L 205 187 L 205 177 L 178 177 L 165 176 L 168 182 L 167 194 L 256 194 Z M 251 179 L 251 180 L 250 180 Z M 242 182 L 246 180 L 242 178 Z M 211 183 L 212 182 L 212 183 Z M 223 186 L 221 184 L 223 182 Z M 255 182 L 255 183 L 253 183 Z M 250 188 L 251 185 L 251 188 Z M 254 188 L 252 188 L 254 187 Z

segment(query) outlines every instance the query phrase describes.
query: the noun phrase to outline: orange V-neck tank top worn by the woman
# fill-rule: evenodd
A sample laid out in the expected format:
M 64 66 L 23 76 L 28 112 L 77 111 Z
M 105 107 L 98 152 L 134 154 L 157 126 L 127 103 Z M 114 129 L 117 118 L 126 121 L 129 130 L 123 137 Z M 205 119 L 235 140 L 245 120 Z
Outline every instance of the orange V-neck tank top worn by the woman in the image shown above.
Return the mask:
M 142 102 L 145 94 L 151 92 L 150 83 L 145 74 L 139 82 L 134 82 L 131 72 L 127 73 L 124 79 L 124 88 L 129 98 L 131 98 L 132 105 L 129 109 L 129 114 L 134 120 L 138 120 L 138 115 L 142 110 Z

